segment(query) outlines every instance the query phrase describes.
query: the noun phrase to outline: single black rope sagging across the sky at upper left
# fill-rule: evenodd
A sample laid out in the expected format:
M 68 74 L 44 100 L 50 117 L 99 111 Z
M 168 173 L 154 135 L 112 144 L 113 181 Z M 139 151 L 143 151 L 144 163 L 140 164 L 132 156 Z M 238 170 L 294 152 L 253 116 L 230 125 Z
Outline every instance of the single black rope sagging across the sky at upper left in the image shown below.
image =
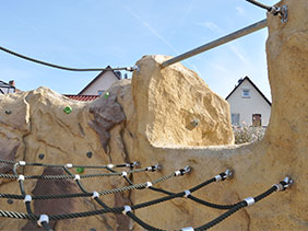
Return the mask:
M 31 58 L 28 56 L 24 56 L 24 55 L 21 55 L 19 53 L 12 51 L 12 50 L 4 48 L 2 46 L 0 46 L 0 49 L 4 53 L 8 53 L 10 55 L 16 56 L 16 57 L 22 58 L 22 59 L 26 59 L 28 61 L 33 61 L 33 62 L 36 62 L 36 63 L 39 63 L 39 65 L 44 65 L 44 66 L 48 66 L 48 67 L 57 68 L 57 69 L 61 69 L 61 70 L 68 70 L 68 71 L 106 71 L 106 70 L 132 71 L 133 70 L 133 68 L 131 68 L 131 67 L 125 67 L 125 68 L 69 68 L 69 67 L 63 67 L 63 66 L 42 61 L 42 60 L 38 60 L 38 59 L 34 59 L 34 58 Z

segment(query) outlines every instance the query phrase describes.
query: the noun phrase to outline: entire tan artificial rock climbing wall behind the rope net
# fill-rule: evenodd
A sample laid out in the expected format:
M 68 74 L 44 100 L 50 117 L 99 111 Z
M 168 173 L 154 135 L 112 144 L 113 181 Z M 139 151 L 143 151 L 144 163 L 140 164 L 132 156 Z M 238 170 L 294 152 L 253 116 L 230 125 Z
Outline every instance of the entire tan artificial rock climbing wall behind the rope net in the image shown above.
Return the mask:
M 183 192 L 232 168 L 230 181 L 214 183 L 193 196 L 234 204 L 256 196 L 292 175 L 295 184 L 239 210 L 213 230 L 308 229 L 308 2 L 285 0 L 288 21 L 268 15 L 266 43 L 272 115 L 262 141 L 234 146 L 227 104 L 192 71 L 177 63 L 162 69 L 168 57 L 145 56 L 132 82 L 114 85 L 108 99 L 76 103 L 46 88 L 0 96 L 0 159 L 56 164 L 105 165 L 140 161 L 162 164 L 159 172 L 135 173 L 133 183 L 153 181 L 186 165 L 189 175 L 157 187 Z M 63 108 L 72 112 L 66 114 Z M 211 147 L 209 147 L 211 146 Z M 212 147 L 216 146 L 216 147 Z M 92 155 L 87 155 L 92 152 Z M 39 158 L 44 154 L 44 159 Z M 0 164 L 1 173 L 12 173 Z M 25 166 L 25 175 L 62 174 L 62 170 Z M 93 173 L 86 169 L 83 174 Z M 95 171 L 97 172 L 97 171 Z M 73 174 L 76 174 L 72 170 Z M 127 185 L 121 177 L 82 180 L 88 192 Z M 48 189 L 49 188 L 49 189 Z M 25 181 L 27 194 L 80 192 L 72 180 Z M 20 194 L 17 182 L 0 180 L 0 193 Z M 103 196 L 108 206 L 139 204 L 162 197 L 149 189 Z M 1 210 L 24 211 L 22 200 L 0 199 Z M 92 198 L 37 200 L 34 212 L 61 213 L 100 209 Z M 153 227 L 179 230 L 199 227 L 223 211 L 177 198 L 134 213 Z M 55 230 L 143 230 L 123 215 L 104 215 L 50 223 Z M 0 230 L 36 229 L 26 220 L 0 218 Z

